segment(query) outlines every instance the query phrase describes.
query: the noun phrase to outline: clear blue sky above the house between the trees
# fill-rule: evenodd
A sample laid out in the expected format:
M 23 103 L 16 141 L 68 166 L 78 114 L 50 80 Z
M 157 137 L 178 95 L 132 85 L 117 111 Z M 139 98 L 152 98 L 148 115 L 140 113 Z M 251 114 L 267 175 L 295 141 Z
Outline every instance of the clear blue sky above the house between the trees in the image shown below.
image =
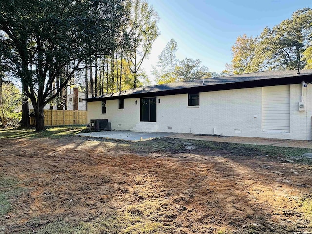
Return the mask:
M 211 72 L 221 72 L 232 60 L 231 46 L 238 36 L 258 36 L 304 7 L 311 0 L 147 0 L 158 12 L 161 35 L 149 59 L 142 64 L 150 78 L 152 65 L 170 39 L 177 57 L 200 59 Z

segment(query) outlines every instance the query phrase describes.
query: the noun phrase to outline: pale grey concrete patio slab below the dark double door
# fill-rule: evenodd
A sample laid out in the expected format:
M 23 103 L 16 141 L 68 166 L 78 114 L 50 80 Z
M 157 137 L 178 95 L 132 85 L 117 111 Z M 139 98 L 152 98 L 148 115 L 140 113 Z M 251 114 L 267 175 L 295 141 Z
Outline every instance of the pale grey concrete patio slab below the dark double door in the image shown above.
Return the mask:
M 80 137 L 95 137 L 102 139 L 117 139 L 117 140 L 126 140 L 131 142 L 151 140 L 156 137 L 166 137 L 169 135 L 173 135 L 172 133 L 138 133 L 131 131 L 102 131 L 102 132 L 90 132 L 90 133 L 78 133 L 76 134 Z

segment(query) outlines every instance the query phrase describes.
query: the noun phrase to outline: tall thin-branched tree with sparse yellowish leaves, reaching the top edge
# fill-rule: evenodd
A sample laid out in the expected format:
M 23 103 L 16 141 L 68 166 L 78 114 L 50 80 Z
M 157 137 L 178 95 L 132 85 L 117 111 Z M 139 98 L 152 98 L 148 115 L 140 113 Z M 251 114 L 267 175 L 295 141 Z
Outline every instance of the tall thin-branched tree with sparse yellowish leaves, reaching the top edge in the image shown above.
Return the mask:
M 129 24 L 126 29 L 126 58 L 137 88 L 138 72 L 143 60 L 150 54 L 152 44 L 159 36 L 158 14 L 145 0 L 128 0 L 130 10 Z

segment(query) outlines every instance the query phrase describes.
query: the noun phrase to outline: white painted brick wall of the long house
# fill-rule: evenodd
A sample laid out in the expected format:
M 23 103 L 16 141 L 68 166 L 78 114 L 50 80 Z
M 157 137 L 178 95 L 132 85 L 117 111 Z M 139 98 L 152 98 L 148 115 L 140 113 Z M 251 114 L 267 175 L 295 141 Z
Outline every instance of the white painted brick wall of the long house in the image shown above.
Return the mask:
M 193 108 L 188 107 L 187 94 L 159 96 L 158 131 L 214 134 L 216 128 L 225 136 L 312 140 L 312 84 L 307 88 L 306 112 L 298 111 L 301 84 L 290 85 L 290 95 L 290 133 L 262 132 L 261 87 L 200 93 L 200 106 Z M 124 110 L 118 110 L 118 100 L 106 101 L 106 106 L 107 114 L 101 114 L 101 102 L 89 102 L 88 121 L 108 119 L 117 130 L 129 130 L 140 121 L 139 98 L 125 99 Z M 242 132 L 234 133 L 235 129 Z

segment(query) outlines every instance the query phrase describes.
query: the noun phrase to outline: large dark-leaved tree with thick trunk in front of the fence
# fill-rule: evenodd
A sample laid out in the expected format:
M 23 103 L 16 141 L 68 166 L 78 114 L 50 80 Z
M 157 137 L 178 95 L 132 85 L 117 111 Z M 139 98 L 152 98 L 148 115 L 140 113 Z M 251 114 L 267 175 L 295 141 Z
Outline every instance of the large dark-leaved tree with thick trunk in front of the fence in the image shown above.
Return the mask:
M 98 53 L 98 41 L 104 43 L 101 51 L 113 50 L 116 25 L 110 9 L 122 9 L 115 7 L 122 4 L 122 0 L 0 0 L 0 30 L 12 41 L 16 70 L 34 107 L 36 131 L 45 130 L 44 106 L 67 86 L 83 60 Z

